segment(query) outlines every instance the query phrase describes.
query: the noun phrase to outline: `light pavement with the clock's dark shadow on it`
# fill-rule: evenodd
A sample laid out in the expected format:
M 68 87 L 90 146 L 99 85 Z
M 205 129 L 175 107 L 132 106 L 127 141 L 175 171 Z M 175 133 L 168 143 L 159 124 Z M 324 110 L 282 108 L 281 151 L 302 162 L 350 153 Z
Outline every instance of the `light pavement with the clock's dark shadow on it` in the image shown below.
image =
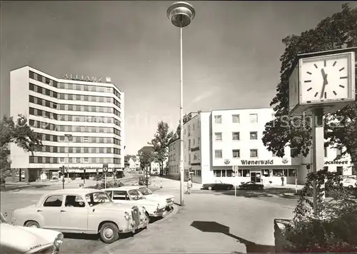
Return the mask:
M 158 194 L 179 192 L 163 188 Z M 185 206 L 169 220 L 149 225 L 130 240 L 97 253 L 274 253 L 274 218 L 292 218 L 293 209 L 229 195 L 185 195 Z

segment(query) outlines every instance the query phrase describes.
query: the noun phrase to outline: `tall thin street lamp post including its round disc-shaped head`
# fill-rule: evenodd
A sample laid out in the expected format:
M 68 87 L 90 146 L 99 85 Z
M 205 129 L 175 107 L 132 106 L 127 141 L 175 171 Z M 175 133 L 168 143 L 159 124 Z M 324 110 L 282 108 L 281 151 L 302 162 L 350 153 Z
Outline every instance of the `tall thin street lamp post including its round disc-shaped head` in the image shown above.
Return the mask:
M 183 193 L 183 65 L 182 65 L 182 28 L 191 24 L 191 20 L 196 16 L 196 11 L 191 4 L 178 1 L 171 4 L 166 11 L 167 17 L 171 23 L 180 28 L 180 205 L 184 205 Z

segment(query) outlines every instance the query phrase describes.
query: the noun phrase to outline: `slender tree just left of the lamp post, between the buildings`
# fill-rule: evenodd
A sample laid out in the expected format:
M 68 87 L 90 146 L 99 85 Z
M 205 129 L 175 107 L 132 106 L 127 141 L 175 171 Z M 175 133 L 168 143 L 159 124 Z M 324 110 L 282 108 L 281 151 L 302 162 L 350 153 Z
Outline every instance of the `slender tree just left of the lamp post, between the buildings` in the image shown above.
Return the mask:
M 160 175 L 163 174 L 164 161 L 168 156 L 168 147 L 173 136 L 174 132 L 169 131 L 169 124 L 164 123 L 164 121 L 160 121 L 158 123 L 154 138 L 151 140 L 151 142 L 149 142 L 149 145 L 154 146 L 155 161 L 159 163 Z

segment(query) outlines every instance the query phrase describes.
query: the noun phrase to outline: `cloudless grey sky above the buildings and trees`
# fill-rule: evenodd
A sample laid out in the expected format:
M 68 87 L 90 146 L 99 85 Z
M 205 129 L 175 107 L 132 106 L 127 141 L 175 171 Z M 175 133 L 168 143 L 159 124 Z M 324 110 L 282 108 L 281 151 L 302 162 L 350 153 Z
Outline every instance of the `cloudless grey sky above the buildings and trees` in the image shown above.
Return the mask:
M 179 120 L 180 31 L 174 1 L 1 1 L 1 103 L 9 114 L 10 71 L 29 65 L 111 77 L 125 93 L 126 154 L 151 141 L 161 120 Z M 276 94 L 281 39 L 341 10 L 333 1 L 188 1 L 183 29 L 183 111 L 265 108 Z M 357 4 L 351 4 L 351 7 Z

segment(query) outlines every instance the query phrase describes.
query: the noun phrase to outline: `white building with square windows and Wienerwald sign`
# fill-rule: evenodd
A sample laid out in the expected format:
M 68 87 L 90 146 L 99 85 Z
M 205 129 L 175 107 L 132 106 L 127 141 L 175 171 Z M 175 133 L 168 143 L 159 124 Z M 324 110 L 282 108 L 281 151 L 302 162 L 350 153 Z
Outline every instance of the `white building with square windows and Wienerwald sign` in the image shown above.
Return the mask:
M 295 183 L 295 178 L 304 183 L 311 156 L 291 158 L 286 146 L 285 156 L 279 158 L 261 141 L 265 124 L 275 118 L 272 108 L 215 110 L 188 116 L 190 120 L 183 125 L 185 178 L 191 169 L 196 183 L 281 184 L 282 176 L 284 183 Z M 341 151 L 326 148 L 328 170 L 351 175 L 351 160 L 347 157 L 334 161 L 338 153 Z M 237 172 L 233 166 L 238 166 Z

